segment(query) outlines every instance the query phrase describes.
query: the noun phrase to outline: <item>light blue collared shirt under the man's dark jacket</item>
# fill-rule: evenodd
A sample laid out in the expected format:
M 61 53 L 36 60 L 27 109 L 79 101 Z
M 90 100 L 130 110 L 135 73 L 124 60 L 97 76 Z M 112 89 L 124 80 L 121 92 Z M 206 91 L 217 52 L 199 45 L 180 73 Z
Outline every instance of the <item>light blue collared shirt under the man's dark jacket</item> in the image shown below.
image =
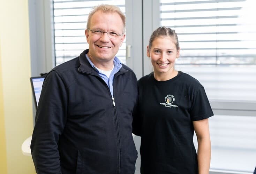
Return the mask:
M 87 58 L 87 60 L 91 64 L 92 68 L 95 69 L 95 71 L 98 72 L 99 76 L 106 82 L 108 88 L 110 89 L 110 93 L 111 93 L 111 95 L 113 97 L 113 80 L 114 80 L 114 75 L 115 75 L 115 73 L 117 73 L 122 68 L 121 61 L 115 56 L 115 58 L 114 58 L 114 69 L 110 73 L 110 77 L 108 78 L 105 74 L 100 73 L 99 70 L 97 70 L 96 66 L 93 65 L 93 63 L 91 62 L 91 60 L 90 60 L 90 58 L 88 57 L 87 54 L 85 54 L 85 57 Z

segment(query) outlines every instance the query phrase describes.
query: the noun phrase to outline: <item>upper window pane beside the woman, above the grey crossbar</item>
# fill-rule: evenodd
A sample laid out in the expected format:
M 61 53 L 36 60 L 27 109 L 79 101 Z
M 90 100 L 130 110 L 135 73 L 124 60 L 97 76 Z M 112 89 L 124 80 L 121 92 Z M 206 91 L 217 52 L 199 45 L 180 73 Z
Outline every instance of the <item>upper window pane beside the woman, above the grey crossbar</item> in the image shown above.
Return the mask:
M 213 100 L 256 101 L 253 0 L 160 0 L 160 26 L 180 42 L 176 68 L 190 73 Z

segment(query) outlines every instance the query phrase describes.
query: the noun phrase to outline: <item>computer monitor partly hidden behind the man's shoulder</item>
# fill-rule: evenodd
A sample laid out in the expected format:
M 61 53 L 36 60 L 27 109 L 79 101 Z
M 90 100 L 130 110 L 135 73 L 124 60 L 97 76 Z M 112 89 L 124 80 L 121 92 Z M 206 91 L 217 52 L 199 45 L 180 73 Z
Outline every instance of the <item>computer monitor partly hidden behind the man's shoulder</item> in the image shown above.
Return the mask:
M 31 83 L 31 87 L 32 87 L 32 93 L 33 93 L 33 98 L 35 101 L 36 109 L 38 106 L 38 101 L 39 101 L 39 97 L 41 94 L 44 78 L 45 77 L 43 77 L 43 76 L 30 77 L 30 83 Z

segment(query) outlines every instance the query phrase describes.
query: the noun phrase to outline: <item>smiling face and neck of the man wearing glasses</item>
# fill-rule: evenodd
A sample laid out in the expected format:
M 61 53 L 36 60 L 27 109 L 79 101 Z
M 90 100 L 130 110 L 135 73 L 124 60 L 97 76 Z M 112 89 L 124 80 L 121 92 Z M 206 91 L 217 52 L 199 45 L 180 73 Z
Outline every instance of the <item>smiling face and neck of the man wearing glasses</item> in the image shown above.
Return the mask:
M 105 32 L 113 31 L 122 34 L 123 22 L 118 13 L 104 13 L 96 11 L 92 15 L 90 29 L 100 29 Z M 102 36 L 93 34 L 90 30 L 85 30 L 86 40 L 89 44 L 88 56 L 93 64 L 101 64 L 113 62 L 113 59 L 118 52 L 125 34 L 117 39 L 110 39 L 107 33 Z

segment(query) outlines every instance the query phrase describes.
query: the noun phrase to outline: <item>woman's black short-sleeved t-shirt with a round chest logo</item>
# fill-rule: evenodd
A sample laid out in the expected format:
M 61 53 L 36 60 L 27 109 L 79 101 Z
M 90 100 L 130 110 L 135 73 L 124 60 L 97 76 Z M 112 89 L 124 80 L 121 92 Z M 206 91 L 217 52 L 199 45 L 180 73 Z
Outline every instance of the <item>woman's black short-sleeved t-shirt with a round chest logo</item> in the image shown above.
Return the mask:
M 139 81 L 142 174 L 197 174 L 193 122 L 213 116 L 204 87 L 193 77 Z

